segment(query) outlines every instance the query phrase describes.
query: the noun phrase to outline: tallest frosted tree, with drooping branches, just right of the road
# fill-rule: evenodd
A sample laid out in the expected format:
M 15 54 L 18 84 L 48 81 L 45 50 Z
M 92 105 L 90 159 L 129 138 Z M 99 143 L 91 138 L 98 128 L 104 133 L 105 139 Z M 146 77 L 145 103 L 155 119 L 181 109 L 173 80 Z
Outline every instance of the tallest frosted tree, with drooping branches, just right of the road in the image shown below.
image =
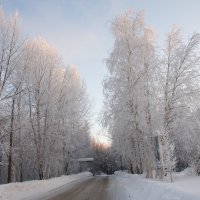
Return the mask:
M 156 67 L 153 31 L 143 12 L 126 12 L 112 23 L 114 49 L 107 59 L 104 80 L 105 124 L 132 173 L 152 177 L 152 70 Z

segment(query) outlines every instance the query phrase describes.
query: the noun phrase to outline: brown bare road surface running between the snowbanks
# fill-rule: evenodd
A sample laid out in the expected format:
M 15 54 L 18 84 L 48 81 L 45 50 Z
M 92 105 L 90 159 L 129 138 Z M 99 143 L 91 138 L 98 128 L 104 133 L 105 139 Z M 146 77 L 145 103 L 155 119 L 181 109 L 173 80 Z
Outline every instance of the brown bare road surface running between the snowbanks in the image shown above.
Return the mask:
M 121 186 L 113 182 L 112 176 L 96 176 L 51 191 L 48 196 L 37 200 L 122 200 Z M 36 200 L 36 199 L 35 199 Z

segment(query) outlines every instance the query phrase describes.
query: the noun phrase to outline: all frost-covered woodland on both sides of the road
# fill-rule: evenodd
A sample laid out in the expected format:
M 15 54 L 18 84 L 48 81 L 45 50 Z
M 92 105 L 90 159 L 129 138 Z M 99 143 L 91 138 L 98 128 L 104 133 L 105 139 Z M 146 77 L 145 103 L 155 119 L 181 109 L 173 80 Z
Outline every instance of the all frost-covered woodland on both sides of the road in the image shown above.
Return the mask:
M 91 103 L 78 70 L 42 38 L 26 38 L 18 13 L 0 10 L 0 183 L 70 174 L 74 159 L 94 170 L 164 179 L 200 175 L 200 34 L 172 27 L 165 40 L 126 11 L 111 22 L 100 123 L 111 146 L 90 136 Z M 66 36 L 67 37 L 67 36 Z

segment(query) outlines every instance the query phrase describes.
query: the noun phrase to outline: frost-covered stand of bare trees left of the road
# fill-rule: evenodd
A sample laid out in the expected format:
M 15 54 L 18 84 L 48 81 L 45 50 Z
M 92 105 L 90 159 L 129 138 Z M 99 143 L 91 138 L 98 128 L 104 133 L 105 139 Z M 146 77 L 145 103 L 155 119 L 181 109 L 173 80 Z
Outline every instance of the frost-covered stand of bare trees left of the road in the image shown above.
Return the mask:
M 0 182 L 66 174 L 70 158 L 90 151 L 89 107 L 77 69 L 1 9 Z

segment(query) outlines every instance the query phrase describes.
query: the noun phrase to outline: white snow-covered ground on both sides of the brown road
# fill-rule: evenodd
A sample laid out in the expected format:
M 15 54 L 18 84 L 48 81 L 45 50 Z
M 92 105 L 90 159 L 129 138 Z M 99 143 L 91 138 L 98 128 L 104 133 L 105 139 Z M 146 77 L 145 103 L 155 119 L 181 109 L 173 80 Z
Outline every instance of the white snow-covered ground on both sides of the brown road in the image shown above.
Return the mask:
M 50 191 L 55 193 L 55 189 L 62 192 L 62 188 L 65 189 L 62 186 L 68 183 L 70 186 L 76 185 L 78 180 L 88 180 L 89 176 L 92 176 L 91 173 L 86 172 L 50 180 L 0 185 L 0 200 L 31 199 L 50 194 Z M 169 183 L 147 180 L 144 175 L 116 172 L 114 176 L 108 177 L 106 187 L 111 194 L 109 200 L 200 200 L 200 177 L 193 175 L 191 169 L 174 173 L 173 178 L 174 182 Z

